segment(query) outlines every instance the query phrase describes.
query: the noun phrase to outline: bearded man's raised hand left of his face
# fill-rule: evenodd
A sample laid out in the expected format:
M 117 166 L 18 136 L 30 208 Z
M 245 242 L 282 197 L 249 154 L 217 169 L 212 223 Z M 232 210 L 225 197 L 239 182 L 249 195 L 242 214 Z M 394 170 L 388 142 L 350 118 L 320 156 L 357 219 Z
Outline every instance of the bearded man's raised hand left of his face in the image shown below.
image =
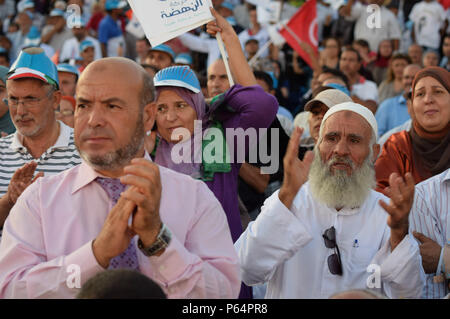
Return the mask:
M 283 159 L 284 179 L 278 197 L 287 208 L 291 207 L 298 190 L 308 180 L 309 168 L 314 158 L 314 154 L 310 151 L 306 152 L 303 161 L 298 158 L 298 148 L 302 134 L 303 129 L 296 127 L 294 132 L 292 132 L 286 155 Z

